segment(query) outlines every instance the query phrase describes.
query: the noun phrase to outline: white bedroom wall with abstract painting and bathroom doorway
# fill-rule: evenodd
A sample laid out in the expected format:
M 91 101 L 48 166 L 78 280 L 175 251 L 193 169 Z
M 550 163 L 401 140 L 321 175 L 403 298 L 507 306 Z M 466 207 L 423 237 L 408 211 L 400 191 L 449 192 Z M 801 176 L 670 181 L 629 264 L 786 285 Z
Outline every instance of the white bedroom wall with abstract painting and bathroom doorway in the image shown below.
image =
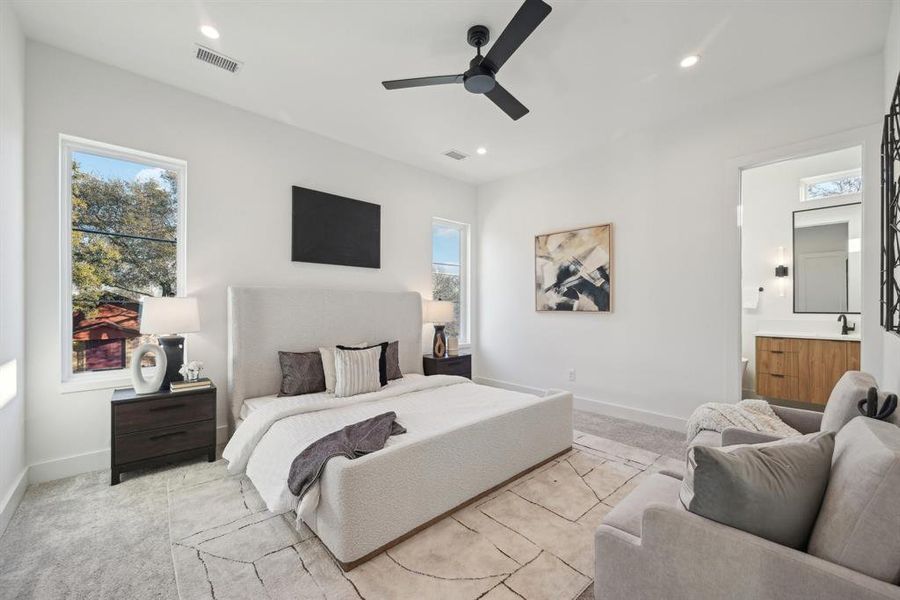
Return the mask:
M 572 389 L 580 406 L 675 428 L 702 402 L 736 400 L 736 165 L 869 126 L 876 139 L 864 160 L 877 173 L 882 82 L 882 57 L 861 58 L 479 188 L 477 375 Z M 613 312 L 535 313 L 534 235 L 606 222 Z M 877 310 L 877 283 L 869 287 L 866 310 Z M 863 361 L 880 371 L 880 344 Z

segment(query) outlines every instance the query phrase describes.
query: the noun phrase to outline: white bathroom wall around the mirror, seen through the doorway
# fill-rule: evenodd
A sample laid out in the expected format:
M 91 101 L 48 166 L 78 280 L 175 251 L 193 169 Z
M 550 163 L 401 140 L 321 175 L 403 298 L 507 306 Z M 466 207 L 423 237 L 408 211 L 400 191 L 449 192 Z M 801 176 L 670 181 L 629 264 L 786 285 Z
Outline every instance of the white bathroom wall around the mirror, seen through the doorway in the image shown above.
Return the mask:
M 741 176 L 741 280 L 742 286 L 763 287 L 756 309 L 743 309 L 741 328 L 741 352 L 750 359 L 744 389 L 753 390 L 755 365 L 754 333 L 757 331 L 804 331 L 838 333 L 840 325 L 834 315 L 795 314 L 792 218 L 795 210 L 822 208 L 836 204 L 860 202 L 862 194 L 844 196 L 835 200 L 801 202 L 800 179 L 837 171 L 858 169 L 862 166 L 861 149 L 847 148 L 804 158 L 777 162 L 747 169 Z M 877 190 L 879 183 L 866 182 Z M 810 214 L 810 213 L 804 213 Z M 815 213 L 812 213 L 815 214 Z M 855 223 L 859 237 L 861 222 Z M 876 232 L 877 235 L 877 232 Z M 784 247 L 784 264 L 788 277 L 783 282 L 775 277 L 778 265 L 778 247 Z M 876 257 L 877 258 L 877 257 Z M 852 261 L 859 265 L 859 261 Z M 860 290 L 859 269 L 855 270 L 855 288 Z M 784 296 L 779 286 L 784 285 Z M 858 302 L 855 303 L 859 311 Z M 873 319 L 877 316 L 873 315 Z M 850 321 L 862 330 L 860 315 L 850 315 Z

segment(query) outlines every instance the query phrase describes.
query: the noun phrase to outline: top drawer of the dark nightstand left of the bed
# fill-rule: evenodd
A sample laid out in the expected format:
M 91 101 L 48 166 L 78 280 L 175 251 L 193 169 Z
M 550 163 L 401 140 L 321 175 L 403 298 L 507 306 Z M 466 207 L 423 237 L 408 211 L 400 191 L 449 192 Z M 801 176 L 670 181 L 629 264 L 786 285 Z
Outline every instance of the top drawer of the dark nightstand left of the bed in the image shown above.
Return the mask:
M 214 419 L 216 416 L 214 398 L 214 393 L 183 394 L 144 402 L 117 404 L 113 416 L 116 434 Z

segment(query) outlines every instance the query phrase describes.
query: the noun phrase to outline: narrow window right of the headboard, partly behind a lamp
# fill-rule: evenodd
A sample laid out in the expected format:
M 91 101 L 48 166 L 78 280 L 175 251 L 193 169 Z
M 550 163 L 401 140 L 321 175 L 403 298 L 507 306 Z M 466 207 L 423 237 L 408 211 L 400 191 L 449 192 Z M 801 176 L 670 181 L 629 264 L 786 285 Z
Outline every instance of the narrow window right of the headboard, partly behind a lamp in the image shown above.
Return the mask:
M 454 305 L 447 336 L 469 343 L 469 226 L 433 219 L 431 223 L 431 294 Z

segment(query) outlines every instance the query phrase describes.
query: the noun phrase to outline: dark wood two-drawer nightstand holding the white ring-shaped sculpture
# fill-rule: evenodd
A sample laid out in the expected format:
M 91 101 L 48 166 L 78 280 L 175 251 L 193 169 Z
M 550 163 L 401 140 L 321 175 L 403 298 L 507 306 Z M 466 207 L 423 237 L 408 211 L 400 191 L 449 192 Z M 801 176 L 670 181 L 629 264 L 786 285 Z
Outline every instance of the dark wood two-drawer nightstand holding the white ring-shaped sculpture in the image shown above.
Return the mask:
M 216 387 L 184 392 L 113 392 L 110 485 L 125 471 L 205 454 L 216 460 Z

